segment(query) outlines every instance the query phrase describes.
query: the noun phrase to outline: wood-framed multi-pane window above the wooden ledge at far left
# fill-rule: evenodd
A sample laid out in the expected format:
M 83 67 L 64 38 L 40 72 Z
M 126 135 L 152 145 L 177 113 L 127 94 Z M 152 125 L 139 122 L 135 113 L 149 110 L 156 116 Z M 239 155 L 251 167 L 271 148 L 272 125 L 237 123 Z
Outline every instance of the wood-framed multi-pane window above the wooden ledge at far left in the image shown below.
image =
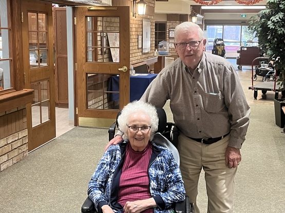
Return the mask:
M 10 1 L 0 0 L 0 89 L 14 87 Z

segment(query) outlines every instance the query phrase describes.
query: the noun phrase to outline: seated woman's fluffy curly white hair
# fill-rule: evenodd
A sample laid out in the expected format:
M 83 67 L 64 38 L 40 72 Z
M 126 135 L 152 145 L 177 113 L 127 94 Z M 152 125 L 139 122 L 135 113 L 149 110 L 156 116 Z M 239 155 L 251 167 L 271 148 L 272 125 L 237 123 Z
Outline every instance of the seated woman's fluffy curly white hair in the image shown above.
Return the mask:
M 156 108 L 150 103 L 145 103 L 143 101 L 133 101 L 128 103 L 123 110 L 121 111 L 121 115 L 118 117 L 118 126 L 119 130 L 123 132 L 123 139 L 128 139 L 128 122 L 129 117 L 137 112 L 145 112 L 150 118 L 150 138 L 152 140 L 154 138 L 154 134 L 158 130 L 158 115 Z

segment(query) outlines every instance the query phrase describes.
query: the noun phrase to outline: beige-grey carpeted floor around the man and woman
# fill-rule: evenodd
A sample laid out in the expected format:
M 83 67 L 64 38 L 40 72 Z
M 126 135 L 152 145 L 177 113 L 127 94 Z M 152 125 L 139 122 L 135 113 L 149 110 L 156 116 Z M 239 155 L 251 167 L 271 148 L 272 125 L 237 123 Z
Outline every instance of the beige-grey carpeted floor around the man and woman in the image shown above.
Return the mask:
M 284 212 L 285 134 L 274 107 L 252 105 L 241 153 L 234 212 Z M 168 106 L 168 121 L 172 121 Z M 75 127 L 0 173 L 0 212 L 80 212 L 87 184 L 108 142 L 106 129 Z M 206 212 L 203 173 L 198 205 Z

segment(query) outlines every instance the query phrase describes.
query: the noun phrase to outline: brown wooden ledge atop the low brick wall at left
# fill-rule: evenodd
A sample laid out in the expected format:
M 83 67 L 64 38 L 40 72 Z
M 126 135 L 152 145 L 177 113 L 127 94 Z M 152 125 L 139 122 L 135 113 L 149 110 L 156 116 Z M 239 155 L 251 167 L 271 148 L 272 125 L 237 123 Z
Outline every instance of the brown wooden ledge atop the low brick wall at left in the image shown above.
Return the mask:
M 0 113 L 31 103 L 33 92 L 34 90 L 24 89 L 0 95 Z

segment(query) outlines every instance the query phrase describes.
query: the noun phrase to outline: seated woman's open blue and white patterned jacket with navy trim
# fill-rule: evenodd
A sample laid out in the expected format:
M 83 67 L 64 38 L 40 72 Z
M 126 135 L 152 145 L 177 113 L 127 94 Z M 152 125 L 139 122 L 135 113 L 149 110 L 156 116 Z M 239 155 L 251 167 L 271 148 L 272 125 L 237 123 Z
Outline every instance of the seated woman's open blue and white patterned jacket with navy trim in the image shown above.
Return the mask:
M 123 212 L 117 202 L 121 168 L 124 162 L 127 141 L 112 145 L 104 153 L 88 185 L 88 196 L 94 202 L 98 212 L 108 204 L 113 211 Z M 157 212 L 173 212 L 172 205 L 183 201 L 185 189 L 178 164 L 172 153 L 165 147 L 152 142 L 148 174 L 150 195 L 155 199 Z

